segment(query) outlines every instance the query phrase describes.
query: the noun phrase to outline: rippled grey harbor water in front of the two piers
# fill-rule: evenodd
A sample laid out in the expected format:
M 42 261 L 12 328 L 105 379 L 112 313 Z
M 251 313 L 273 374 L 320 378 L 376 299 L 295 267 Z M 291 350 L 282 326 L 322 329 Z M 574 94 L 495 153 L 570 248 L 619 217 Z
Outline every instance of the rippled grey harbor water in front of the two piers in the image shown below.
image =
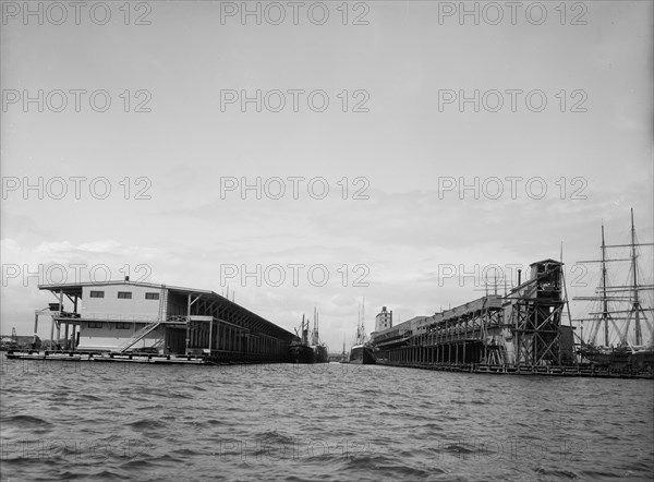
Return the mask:
M 650 480 L 651 381 L 1 360 L 1 479 Z

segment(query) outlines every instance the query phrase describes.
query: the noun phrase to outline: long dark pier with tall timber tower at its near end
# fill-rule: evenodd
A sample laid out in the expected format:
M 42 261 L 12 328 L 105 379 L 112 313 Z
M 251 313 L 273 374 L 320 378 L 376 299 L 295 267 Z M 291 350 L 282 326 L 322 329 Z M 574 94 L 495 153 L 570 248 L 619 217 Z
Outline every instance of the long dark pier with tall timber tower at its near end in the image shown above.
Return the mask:
M 378 362 L 470 373 L 652 377 L 646 357 L 615 366 L 580 363 L 566 306 L 562 263 L 532 263 L 530 279 L 507 296 L 486 296 L 373 333 Z

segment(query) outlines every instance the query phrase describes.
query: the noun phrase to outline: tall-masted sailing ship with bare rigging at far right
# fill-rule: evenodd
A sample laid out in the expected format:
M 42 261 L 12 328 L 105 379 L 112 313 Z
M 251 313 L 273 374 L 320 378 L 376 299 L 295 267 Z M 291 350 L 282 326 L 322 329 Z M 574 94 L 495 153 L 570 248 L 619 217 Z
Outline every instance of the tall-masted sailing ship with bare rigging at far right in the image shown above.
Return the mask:
M 647 294 L 654 285 L 643 284 L 639 272 L 639 248 L 654 243 L 639 243 L 631 209 L 631 236 L 627 244 L 606 244 L 602 225 L 601 258 L 582 261 L 579 264 L 600 263 L 600 286 L 592 297 L 576 297 L 577 301 L 591 301 L 595 309 L 588 317 L 576 320 L 580 324 L 580 342 L 577 352 L 582 361 L 611 369 L 654 369 L 651 313 Z M 609 257 L 609 249 L 629 249 L 628 257 Z M 625 285 L 611 285 L 609 263 L 629 263 L 628 280 Z M 649 304 L 647 304 L 649 302 Z M 650 313 L 650 316 L 647 315 Z M 586 338 L 583 323 L 589 322 Z M 601 335 L 601 336 L 600 336 Z

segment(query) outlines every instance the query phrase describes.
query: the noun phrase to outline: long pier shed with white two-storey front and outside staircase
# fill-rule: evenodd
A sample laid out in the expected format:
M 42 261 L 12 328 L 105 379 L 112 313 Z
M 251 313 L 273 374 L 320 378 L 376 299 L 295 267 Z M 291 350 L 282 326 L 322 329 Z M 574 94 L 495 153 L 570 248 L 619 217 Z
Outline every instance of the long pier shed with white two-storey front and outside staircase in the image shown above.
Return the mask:
M 129 277 L 122 281 L 40 285 L 39 289 L 50 291 L 58 302 L 35 312 L 33 350 L 14 351 L 8 358 L 282 362 L 296 338 L 213 291 L 130 281 Z M 48 350 L 35 352 L 37 341 L 40 345 L 36 336 L 39 317 L 50 322 L 50 344 Z

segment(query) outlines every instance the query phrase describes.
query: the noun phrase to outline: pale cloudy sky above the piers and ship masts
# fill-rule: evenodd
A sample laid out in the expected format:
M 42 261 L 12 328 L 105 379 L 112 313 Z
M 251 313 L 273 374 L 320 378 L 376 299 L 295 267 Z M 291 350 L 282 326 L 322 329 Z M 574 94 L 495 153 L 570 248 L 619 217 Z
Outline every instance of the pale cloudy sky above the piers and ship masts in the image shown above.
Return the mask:
M 129 273 L 340 351 L 652 242 L 651 2 L 1 3 L 2 334 Z

